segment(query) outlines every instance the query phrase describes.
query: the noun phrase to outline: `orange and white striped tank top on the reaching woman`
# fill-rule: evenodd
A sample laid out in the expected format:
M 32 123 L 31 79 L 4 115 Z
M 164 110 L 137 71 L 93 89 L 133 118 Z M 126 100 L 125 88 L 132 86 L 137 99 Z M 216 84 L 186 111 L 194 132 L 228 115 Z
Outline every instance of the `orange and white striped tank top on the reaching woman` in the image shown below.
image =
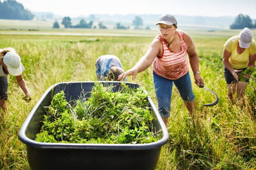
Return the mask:
M 167 47 L 160 33 L 156 36 L 162 41 L 163 55 L 157 56 L 153 61 L 153 70 L 155 74 L 171 80 L 178 79 L 188 72 L 188 45 L 184 41 L 183 32 L 178 31 L 178 35 L 181 46 L 181 51 L 178 53 Z

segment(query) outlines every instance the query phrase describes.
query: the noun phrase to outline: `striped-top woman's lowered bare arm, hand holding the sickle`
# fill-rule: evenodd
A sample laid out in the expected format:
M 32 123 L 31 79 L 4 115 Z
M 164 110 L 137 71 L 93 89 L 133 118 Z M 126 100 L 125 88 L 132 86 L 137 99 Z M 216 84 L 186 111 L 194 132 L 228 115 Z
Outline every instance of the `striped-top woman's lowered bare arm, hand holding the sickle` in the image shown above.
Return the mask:
M 192 38 L 186 32 L 183 33 L 183 37 L 184 37 L 184 41 L 188 45 L 187 53 L 188 53 L 188 57 L 189 57 L 190 66 L 194 73 L 195 83 L 196 83 L 196 85 L 201 87 L 202 85 L 204 85 L 204 80 L 201 78 L 200 74 L 197 73 L 197 72 L 199 72 L 199 58 L 196 53 L 194 42 L 193 42 Z

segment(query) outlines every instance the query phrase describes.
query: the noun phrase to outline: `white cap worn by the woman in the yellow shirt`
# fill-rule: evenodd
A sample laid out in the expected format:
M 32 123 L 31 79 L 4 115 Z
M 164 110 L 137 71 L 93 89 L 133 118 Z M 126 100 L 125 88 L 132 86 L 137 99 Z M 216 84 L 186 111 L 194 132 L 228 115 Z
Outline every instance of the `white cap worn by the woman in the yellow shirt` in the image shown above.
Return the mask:
M 252 32 L 249 28 L 244 28 L 239 34 L 239 46 L 241 48 L 249 48 L 252 43 Z

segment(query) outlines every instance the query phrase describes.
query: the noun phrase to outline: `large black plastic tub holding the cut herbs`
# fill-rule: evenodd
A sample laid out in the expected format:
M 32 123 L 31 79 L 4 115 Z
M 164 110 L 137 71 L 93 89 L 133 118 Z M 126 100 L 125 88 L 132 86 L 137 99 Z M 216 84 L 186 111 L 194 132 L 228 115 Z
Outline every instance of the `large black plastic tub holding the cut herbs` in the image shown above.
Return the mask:
M 102 81 L 103 85 L 114 85 L 118 91 L 120 82 Z M 140 85 L 126 83 L 132 89 Z M 153 125 L 160 139 L 149 144 L 65 144 L 36 142 L 36 134 L 42 126 L 45 106 L 49 106 L 54 94 L 64 90 L 66 99 L 76 100 L 86 92 L 91 92 L 94 82 L 67 82 L 52 85 L 39 99 L 24 121 L 19 140 L 26 144 L 27 158 L 32 170 L 154 170 L 157 166 L 162 145 L 167 143 L 168 131 L 155 107 L 152 108 Z M 145 91 L 145 93 L 147 93 Z M 86 97 L 90 93 L 86 93 Z

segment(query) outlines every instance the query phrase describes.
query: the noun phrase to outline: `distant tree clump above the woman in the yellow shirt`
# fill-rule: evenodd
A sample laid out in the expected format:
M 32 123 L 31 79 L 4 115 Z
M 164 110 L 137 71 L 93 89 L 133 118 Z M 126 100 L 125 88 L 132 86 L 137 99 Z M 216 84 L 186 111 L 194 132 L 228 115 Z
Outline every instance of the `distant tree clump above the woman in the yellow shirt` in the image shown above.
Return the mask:
M 243 15 L 242 13 L 237 15 L 234 23 L 229 26 L 230 29 L 243 29 L 244 27 L 253 28 L 253 25 L 250 17 L 248 15 Z

